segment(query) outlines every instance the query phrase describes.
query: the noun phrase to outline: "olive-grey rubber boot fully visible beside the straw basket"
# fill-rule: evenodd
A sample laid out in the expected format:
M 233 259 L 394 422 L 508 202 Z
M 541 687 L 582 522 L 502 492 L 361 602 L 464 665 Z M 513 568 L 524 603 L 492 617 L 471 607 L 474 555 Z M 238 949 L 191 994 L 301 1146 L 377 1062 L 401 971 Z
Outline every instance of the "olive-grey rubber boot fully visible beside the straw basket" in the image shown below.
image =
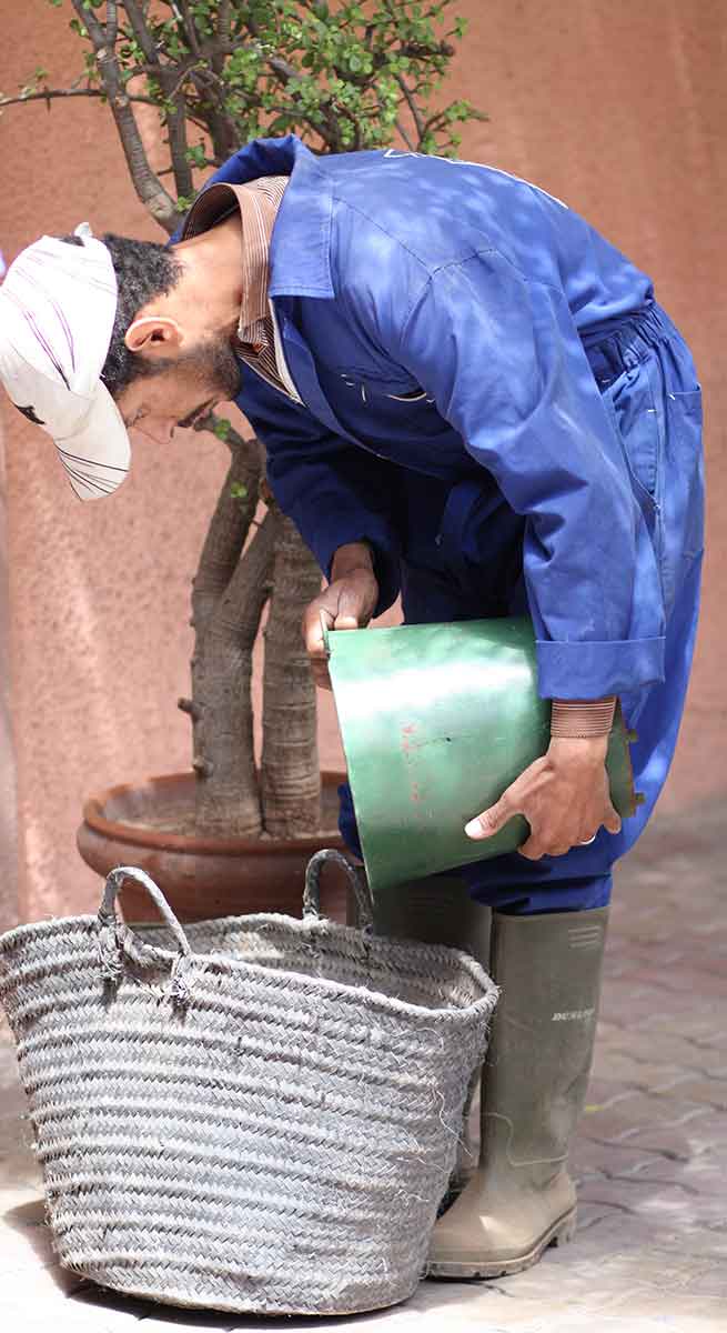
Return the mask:
M 591 1068 L 608 909 L 493 914 L 502 988 L 482 1077 L 479 1165 L 434 1226 L 429 1277 L 501 1277 L 573 1238 L 567 1156 Z

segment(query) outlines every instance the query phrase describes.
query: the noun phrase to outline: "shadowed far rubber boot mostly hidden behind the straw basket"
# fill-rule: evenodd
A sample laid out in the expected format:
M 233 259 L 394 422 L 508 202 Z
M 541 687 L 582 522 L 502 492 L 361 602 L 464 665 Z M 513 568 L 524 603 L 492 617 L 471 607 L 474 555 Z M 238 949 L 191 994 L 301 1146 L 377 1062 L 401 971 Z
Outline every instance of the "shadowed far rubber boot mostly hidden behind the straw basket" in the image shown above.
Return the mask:
M 397 889 L 377 894 L 374 901 L 377 934 L 399 940 L 423 940 L 425 944 L 449 944 L 454 949 L 471 953 L 483 968 L 487 968 L 490 957 L 491 917 L 490 908 L 474 902 L 463 881 L 454 874 L 431 874 L 426 880 L 410 880 Z M 479 1092 L 479 1078 L 477 1069 L 465 1102 L 457 1162 L 447 1192 L 439 1204 L 439 1212 L 449 1208 L 462 1193 L 477 1169 L 478 1145 L 473 1134 L 470 1112 Z

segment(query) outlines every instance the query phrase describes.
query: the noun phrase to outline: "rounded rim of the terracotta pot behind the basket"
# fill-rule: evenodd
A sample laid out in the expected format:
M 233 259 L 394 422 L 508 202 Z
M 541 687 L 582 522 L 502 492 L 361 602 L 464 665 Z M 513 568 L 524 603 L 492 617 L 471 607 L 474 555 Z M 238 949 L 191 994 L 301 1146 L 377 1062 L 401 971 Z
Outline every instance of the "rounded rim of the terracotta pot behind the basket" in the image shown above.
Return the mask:
M 213 856 L 276 856 L 288 852 L 316 852 L 321 841 L 329 841 L 330 846 L 342 846 L 344 841 L 338 829 L 321 829 L 318 833 L 306 833 L 301 837 L 274 838 L 274 837 L 194 837 L 189 833 L 170 833 L 164 829 L 140 828 L 136 824 L 124 824 L 119 820 L 109 820 L 104 814 L 104 808 L 109 800 L 124 796 L 126 792 L 138 792 L 142 788 L 186 786 L 194 781 L 192 770 L 184 773 L 161 773 L 148 777 L 141 782 L 120 782 L 116 786 L 107 786 L 97 796 L 89 796 L 84 802 L 84 824 L 101 837 L 115 842 L 128 842 L 137 846 L 149 846 L 156 850 L 181 852 L 188 856 L 200 856 L 209 852 Z M 346 781 L 345 772 L 336 769 L 321 770 L 321 784 L 324 788 L 338 786 Z

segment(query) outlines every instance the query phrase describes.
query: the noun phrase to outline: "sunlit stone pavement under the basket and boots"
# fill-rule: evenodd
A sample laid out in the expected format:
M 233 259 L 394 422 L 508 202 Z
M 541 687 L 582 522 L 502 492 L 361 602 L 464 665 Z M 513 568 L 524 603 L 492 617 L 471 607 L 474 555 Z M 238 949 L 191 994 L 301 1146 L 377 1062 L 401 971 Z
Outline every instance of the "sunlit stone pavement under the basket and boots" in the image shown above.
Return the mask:
M 727 876 L 724 808 L 655 821 L 620 868 L 589 1104 L 573 1166 L 575 1242 L 495 1282 L 422 1282 L 348 1320 L 180 1312 L 104 1292 L 55 1262 L 0 1044 L 0 1329 L 168 1333 L 707 1333 L 727 1329 Z

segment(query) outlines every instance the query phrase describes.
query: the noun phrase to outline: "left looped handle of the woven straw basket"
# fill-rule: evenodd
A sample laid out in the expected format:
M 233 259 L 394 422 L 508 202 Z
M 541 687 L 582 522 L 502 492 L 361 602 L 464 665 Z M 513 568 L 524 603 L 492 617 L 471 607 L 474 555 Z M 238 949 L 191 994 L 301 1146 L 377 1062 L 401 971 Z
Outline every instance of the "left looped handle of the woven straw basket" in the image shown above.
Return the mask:
M 124 925 L 124 922 L 119 921 L 119 917 L 116 916 L 116 894 L 119 893 L 124 880 L 136 880 L 144 889 L 146 889 L 146 893 L 158 909 L 165 925 L 169 926 L 172 934 L 174 936 L 180 952 L 172 966 L 172 986 L 169 993 L 172 1000 L 186 1004 L 189 1000 L 189 969 L 193 958 L 189 940 L 172 912 L 172 908 L 164 897 L 158 884 L 154 884 L 150 876 L 148 876 L 144 870 L 140 870 L 136 865 L 117 865 L 107 876 L 104 897 L 101 898 L 101 906 L 99 908 L 97 917 L 99 957 L 104 977 L 108 981 L 120 980 L 124 970 L 124 952 L 130 953 L 132 957 L 141 957 L 141 954 L 144 954 L 148 958 L 158 953 L 158 950 L 156 950 L 152 945 L 142 945 L 141 950 L 133 948 L 133 930 L 129 930 L 129 928 Z

